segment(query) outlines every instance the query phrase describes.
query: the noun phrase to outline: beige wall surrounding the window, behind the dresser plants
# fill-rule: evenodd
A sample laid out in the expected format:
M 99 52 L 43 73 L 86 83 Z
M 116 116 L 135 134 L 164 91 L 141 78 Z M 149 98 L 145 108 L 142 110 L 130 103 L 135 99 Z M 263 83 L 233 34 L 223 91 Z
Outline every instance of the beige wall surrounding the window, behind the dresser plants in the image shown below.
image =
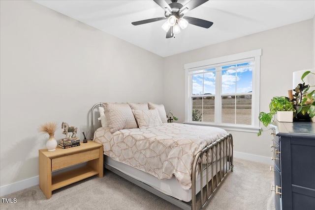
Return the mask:
M 287 95 L 292 88 L 292 73 L 313 66 L 313 19 L 274 28 L 205 48 L 176 54 L 164 59 L 164 104 L 174 115 L 185 120 L 184 64 L 224 55 L 262 49 L 260 65 L 260 110 L 269 111 L 273 96 Z M 230 131 L 234 151 L 271 157 L 270 132 L 257 137 L 256 133 Z

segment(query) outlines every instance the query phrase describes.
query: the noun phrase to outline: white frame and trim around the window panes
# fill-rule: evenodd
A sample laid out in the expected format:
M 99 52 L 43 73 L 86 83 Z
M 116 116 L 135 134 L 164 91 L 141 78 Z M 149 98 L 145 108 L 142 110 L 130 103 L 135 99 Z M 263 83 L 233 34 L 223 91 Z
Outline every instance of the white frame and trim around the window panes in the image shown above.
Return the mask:
M 203 126 L 214 126 L 220 127 L 225 130 L 230 131 L 246 131 L 246 132 L 258 132 L 259 131 L 259 102 L 260 102 L 260 56 L 262 54 L 262 49 L 257 49 L 253 51 L 248 51 L 244 53 L 237 53 L 226 55 L 217 58 L 211 58 L 208 60 L 197 61 L 193 63 L 187 63 L 184 65 L 185 68 L 185 122 L 186 124 L 193 124 L 193 125 L 203 125 Z M 251 125 L 235 125 L 235 124 L 218 124 L 218 123 L 211 123 L 211 122 L 196 122 L 192 121 L 192 103 L 191 103 L 191 76 L 189 75 L 190 71 L 196 71 L 198 69 L 206 69 L 207 66 L 213 65 L 221 65 L 226 62 L 233 62 L 238 60 L 244 60 L 253 58 L 254 67 L 252 70 L 252 124 Z M 220 77 L 221 79 L 221 77 Z M 220 82 L 216 79 L 217 82 Z M 217 105 L 217 104 L 216 104 Z M 218 107 L 218 106 L 216 106 Z M 215 111 L 216 115 L 221 113 L 221 108 Z

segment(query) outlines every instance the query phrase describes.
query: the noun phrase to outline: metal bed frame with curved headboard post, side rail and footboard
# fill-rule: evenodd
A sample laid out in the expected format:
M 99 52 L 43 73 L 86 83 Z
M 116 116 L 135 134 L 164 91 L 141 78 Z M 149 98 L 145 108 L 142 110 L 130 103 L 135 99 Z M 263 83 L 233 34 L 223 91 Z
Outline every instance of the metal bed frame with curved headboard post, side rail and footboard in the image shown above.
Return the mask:
M 94 138 L 94 109 L 96 106 L 103 106 L 103 103 L 95 104 L 91 109 L 91 135 L 92 140 Z M 218 154 L 219 150 L 219 154 Z M 223 152 L 222 152 L 223 150 Z M 215 164 L 216 173 L 214 173 L 214 151 L 215 151 L 215 159 L 217 163 Z M 231 154 L 230 154 L 231 151 Z M 222 154 L 223 153 L 223 154 Z M 212 162 L 209 163 L 209 155 L 211 156 Z M 203 156 L 206 156 L 206 163 L 203 163 Z M 219 159 L 218 159 L 219 156 Z M 180 207 L 183 210 L 200 210 L 203 209 L 210 199 L 215 195 L 219 186 L 224 181 L 226 175 L 229 172 L 233 171 L 233 137 L 231 133 L 228 133 L 221 138 L 215 140 L 211 144 L 207 145 L 201 151 L 199 151 L 193 159 L 192 171 L 191 171 L 191 201 L 184 202 L 180 201 L 172 196 L 166 195 L 156 188 L 142 183 L 139 180 L 136 180 L 128 175 L 124 174 L 123 172 L 107 165 L 105 163 L 105 158 L 107 156 L 104 155 L 104 167 L 115 174 L 123 177 L 124 179 L 132 182 L 140 186 L 141 188 L 146 189 L 147 191 L 159 196 L 160 198 Z M 219 160 L 219 172 L 218 172 L 218 160 Z M 196 170 L 197 165 L 200 168 L 200 192 L 196 195 Z M 211 167 L 211 180 L 209 180 L 209 167 Z M 203 186 L 203 170 L 206 171 L 206 179 L 207 183 Z

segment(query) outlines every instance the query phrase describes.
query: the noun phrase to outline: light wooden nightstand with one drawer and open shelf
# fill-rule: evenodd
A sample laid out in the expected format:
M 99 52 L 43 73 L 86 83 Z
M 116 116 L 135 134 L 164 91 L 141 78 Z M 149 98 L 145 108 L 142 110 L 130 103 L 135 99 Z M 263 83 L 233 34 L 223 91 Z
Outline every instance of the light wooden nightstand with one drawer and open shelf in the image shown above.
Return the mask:
M 86 166 L 52 176 L 52 171 L 75 164 L 88 162 Z M 51 198 L 52 191 L 68 184 L 97 175 L 103 177 L 103 145 L 89 140 L 78 147 L 55 151 L 39 150 L 39 187 L 46 198 Z

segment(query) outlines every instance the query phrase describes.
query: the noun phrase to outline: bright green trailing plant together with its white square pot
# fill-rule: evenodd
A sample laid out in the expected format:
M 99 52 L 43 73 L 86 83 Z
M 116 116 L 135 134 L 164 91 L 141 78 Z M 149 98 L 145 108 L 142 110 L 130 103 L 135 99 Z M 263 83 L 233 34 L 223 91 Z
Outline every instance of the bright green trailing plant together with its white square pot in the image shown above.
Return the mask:
M 259 121 L 262 122 L 265 127 L 274 121 L 275 114 L 277 114 L 277 119 L 279 122 L 293 121 L 293 112 L 295 112 L 295 109 L 288 97 L 273 97 L 269 104 L 269 109 L 269 113 L 260 112 L 258 116 Z M 262 131 L 263 130 L 260 129 L 257 135 L 261 135 Z

